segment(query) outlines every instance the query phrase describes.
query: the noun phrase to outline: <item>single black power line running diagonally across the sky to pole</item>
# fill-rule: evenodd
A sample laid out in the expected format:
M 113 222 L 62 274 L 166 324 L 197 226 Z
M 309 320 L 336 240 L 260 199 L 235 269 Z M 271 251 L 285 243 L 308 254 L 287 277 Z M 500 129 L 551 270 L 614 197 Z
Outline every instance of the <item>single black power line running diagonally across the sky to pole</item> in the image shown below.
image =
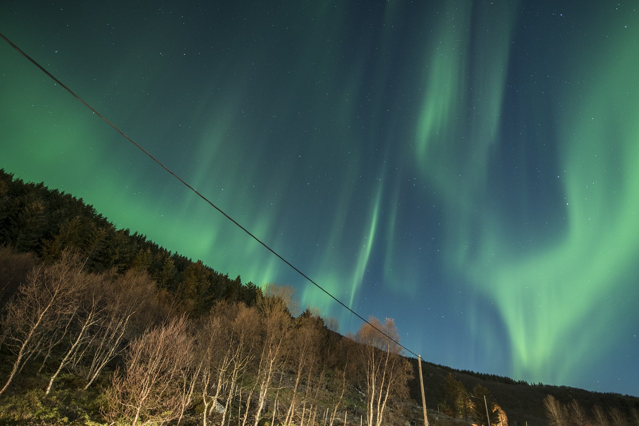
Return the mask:
M 219 211 L 220 213 L 222 213 L 222 215 L 224 215 L 224 217 L 226 217 L 228 220 L 230 220 L 231 222 L 233 222 L 233 224 L 237 225 L 240 229 L 242 229 L 242 231 L 246 232 L 247 234 L 249 234 L 249 236 L 251 238 L 253 238 L 255 241 L 258 241 L 258 243 L 260 243 L 261 245 L 263 245 L 263 247 L 266 248 L 266 250 L 268 250 L 269 252 L 271 252 L 272 254 L 274 254 L 275 256 L 279 257 L 279 259 L 286 263 L 288 266 L 290 266 L 293 270 L 295 270 L 298 274 L 302 275 L 302 277 L 306 278 L 306 280 L 308 280 L 309 282 L 311 282 L 313 285 L 315 285 L 316 287 L 318 287 L 318 289 L 320 289 L 321 291 L 323 291 L 324 293 L 328 294 L 328 296 L 330 296 L 330 298 L 332 298 L 333 300 L 335 300 L 337 303 L 339 303 L 340 305 L 342 305 L 344 308 L 346 308 L 349 312 L 351 312 L 351 314 L 357 316 L 359 319 L 361 319 L 362 321 L 364 321 L 364 323 L 369 324 L 369 326 L 373 327 L 375 330 L 379 331 L 382 335 L 384 335 L 385 337 L 387 337 L 389 340 L 391 340 L 392 342 L 396 343 L 397 346 L 401 347 L 402 349 L 404 349 L 406 352 L 411 353 L 415 356 L 418 356 L 416 353 L 414 353 L 413 351 L 411 351 L 410 349 L 408 349 L 407 347 L 403 346 L 401 343 L 399 343 L 397 340 L 393 339 L 392 337 L 390 337 L 387 333 L 385 333 L 384 331 L 380 330 L 377 326 L 375 326 L 374 324 L 371 324 L 367 319 L 364 319 L 364 317 L 360 316 L 360 314 L 358 314 L 357 312 L 355 312 L 353 309 L 351 309 L 350 307 L 348 307 L 347 305 L 345 305 L 341 300 L 339 300 L 338 298 L 336 298 L 335 296 L 333 296 L 332 294 L 328 293 L 328 291 L 326 289 L 324 289 L 323 287 L 321 287 L 321 285 L 317 284 L 316 282 L 314 282 L 314 280 L 312 280 L 310 277 L 308 277 L 304 272 L 300 271 L 298 268 L 296 268 L 295 266 L 293 266 L 293 264 L 291 264 L 291 262 L 287 261 L 286 259 L 284 259 L 284 257 L 282 257 L 281 255 L 279 255 L 277 252 L 275 252 L 275 250 L 273 250 L 272 248 L 268 247 L 268 245 L 266 245 L 266 243 L 264 243 L 263 241 L 259 240 L 258 237 L 256 237 L 254 234 L 252 234 L 248 229 L 246 229 L 245 227 L 243 227 L 242 225 L 240 225 L 235 219 L 233 219 L 232 217 L 230 217 L 229 215 L 227 215 L 222 209 L 220 209 L 218 206 L 216 206 L 215 204 L 213 204 L 212 201 L 210 201 L 208 198 L 204 197 L 204 195 L 200 194 L 193 186 L 189 185 L 186 181 L 184 181 L 184 179 L 180 178 L 180 176 L 178 176 L 177 174 L 175 174 L 171 169 L 169 169 L 169 167 L 167 167 L 166 165 L 164 165 L 162 162 L 160 162 L 160 160 L 158 160 L 157 158 L 155 158 L 155 156 L 151 155 L 151 153 L 149 151 L 146 151 L 146 149 L 142 148 L 141 145 L 137 144 L 137 142 L 135 142 L 133 139 L 131 139 L 130 137 L 128 137 L 127 133 L 123 132 L 122 130 L 120 130 L 118 128 L 118 126 L 114 125 L 113 123 L 111 123 L 111 121 L 109 121 L 107 118 L 105 118 L 102 114 L 100 114 L 100 112 L 98 112 L 97 110 L 95 110 L 93 107 L 91 107 L 91 105 L 89 105 L 89 103 L 87 103 L 85 100 L 83 100 L 80 96 L 78 96 L 75 92 L 73 92 L 69 87 L 67 87 L 65 84 L 63 84 L 63 82 L 61 82 L 60 80 L 56 79 L 56 77 L 54 77 L 54 75 L 52 75 L 49 71 L 47 71 L 42 65 L 40 65 L 39 63 L 37 63 L 35 61 L 35 59 L 31 58 L 29 55 L 27 55 L 22 49 L 20 49 L 17 45 L 15 45 L 11 40 L 9 40 L 8 38 L 6 38 L 6 36 L 4 36 L 4 34 L 0 33 L 0 37 L 4 39 L 5 42 L 9 43 L 13 49 L 17 50 L 22 56 L 26 57 L 29 61 L 31 61 L 31 63 L 33 63 L 33 65 L 37 66 L 38 68 L 40 68 L 40 70 L 42 70 L 43 73 L 47 74 L 52 80 L 54 80 L 54 82 L 56 82 L 57 84 L 59 84 L 61 87 L 63 87 L 66 91 L 68 91 L 68 93 L 70 93 L 74 98 L 76 98 L 77 100 L 79 100 L 79 102 L 81 102 L 82 104 L 84 104 L 84 106 L 86 106 L 88 109 L 90 109 L 94 114 L 96 114 L 96 116 L 100 117 L 105 123 L 107 123 L 107 125 L 111 126 L 114 130 L 116 130 L 116 132 L 120 133 L 123 137 L 125 137 L 125 139 L 127 139 L 127 141 L 131 142 L 132 144 L 134 144 L 138 149 L 140 149 L 144 154 L 146 154 L 149 158 L 151 158 L 151 160 L 153 160 L 154 162 L 156 162 L 158 165 L 160 165 L 160 167 L 162 167 L 162 169 L 166 170 L 167 172 L 169 172 L 170 174 L 173 175 L 174 178 L 178 179 L 178 181 L 180 181 L 181 183 L 183 183 L 185 186 L 187 186 L 187 188 L 189 188 L 190 190 L 192 190 L 195 194 L 197 194 L 201 199 L 203 199 L 204 201 L 206 201 L 208 204 L 210 204 L 210 206 L 212 206 L 214 209 L 216 209 L 217 211 Z

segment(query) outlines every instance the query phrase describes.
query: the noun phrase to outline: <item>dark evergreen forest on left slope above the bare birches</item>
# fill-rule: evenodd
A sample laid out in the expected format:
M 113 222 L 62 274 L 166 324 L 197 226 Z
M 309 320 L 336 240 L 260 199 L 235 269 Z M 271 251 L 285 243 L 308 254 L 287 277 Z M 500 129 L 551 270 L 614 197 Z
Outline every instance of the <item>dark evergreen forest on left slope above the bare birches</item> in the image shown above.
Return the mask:
M 141 268 L 158 289 L 196 312 L 208 311 L 220 299 L 252 305 L 260 291 L 252 282 L 243 284 L 239 276 L 232 279 L 201 261 L 159 247 L 144 235 L 116 229 L 81 198 L 43 183 L 24 183 L 2 169 L 0 246 L 33 252 L 47 262 L 58 259 L 63 248 L 73 247 L 95 273 Z

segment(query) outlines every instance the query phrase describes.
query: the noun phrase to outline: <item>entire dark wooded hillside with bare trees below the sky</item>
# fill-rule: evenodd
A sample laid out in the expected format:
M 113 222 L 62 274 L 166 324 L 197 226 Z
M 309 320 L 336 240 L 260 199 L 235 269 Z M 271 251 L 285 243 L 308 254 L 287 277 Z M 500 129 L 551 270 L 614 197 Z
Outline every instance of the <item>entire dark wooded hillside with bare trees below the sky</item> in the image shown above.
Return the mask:
M 398 339 L 392 319 L 371 323 Z M 289 287 L 232 279 L 4 171 L 0 324 L 0 424 L 423 424 L 417 360 L 369 324 L 343 337 Z M 634 397 L 422 369 L 431 424 L 639 426 Z

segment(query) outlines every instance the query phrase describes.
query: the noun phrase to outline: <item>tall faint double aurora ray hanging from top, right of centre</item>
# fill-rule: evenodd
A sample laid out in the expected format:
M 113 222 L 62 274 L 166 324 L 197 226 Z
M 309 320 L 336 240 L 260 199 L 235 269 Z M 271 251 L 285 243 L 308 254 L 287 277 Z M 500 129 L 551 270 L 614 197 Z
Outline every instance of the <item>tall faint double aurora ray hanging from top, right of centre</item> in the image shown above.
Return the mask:
M 456 241 L 447 249 L 455 253 L 447 257 L 458 264 L 469 255 L 473 232 L 483 232 L 478 206 L 487 190 L 489 149 L 497 142 L 515 11 L 516 3 L 446 2 L 426 54 L 415 158 L 454 216 L 447 232 Z

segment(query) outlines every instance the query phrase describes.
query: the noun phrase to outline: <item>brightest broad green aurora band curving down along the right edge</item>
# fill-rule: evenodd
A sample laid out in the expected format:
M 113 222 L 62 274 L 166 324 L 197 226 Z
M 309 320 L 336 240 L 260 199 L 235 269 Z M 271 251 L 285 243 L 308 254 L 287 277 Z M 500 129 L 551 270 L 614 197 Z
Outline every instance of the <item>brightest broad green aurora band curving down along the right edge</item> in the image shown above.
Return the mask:
M 637 36 L 639 31 L 628 30 L 617 46 Z M 639 61 L 625 49 L 594 57 L 606 67 L 595 74 L 586 63 L 578 66 L 587 89 L 564 100 L 569 119 L 560 134 L 567 209 L 562 239 L 486 277 L 493 280 L 495 301 L 509 328 L 515 372 L 523 377 L 550 370 L 551 379 L 565 381 L 578 368 L 573 362 L 579 354 L 592 351 L 592 341 L 578 337 L 585 323 L 597 331 L 601 345 L 594 347 L 603 352 L 617 319 L 589 316 L 621 289 L 619 278 L 639 253 L 639 98 L 628 90 Z M 523 312 L 530 300 L 534 312 Z M 577 356 L 556 365 L 557 348 L 566 344 Z

